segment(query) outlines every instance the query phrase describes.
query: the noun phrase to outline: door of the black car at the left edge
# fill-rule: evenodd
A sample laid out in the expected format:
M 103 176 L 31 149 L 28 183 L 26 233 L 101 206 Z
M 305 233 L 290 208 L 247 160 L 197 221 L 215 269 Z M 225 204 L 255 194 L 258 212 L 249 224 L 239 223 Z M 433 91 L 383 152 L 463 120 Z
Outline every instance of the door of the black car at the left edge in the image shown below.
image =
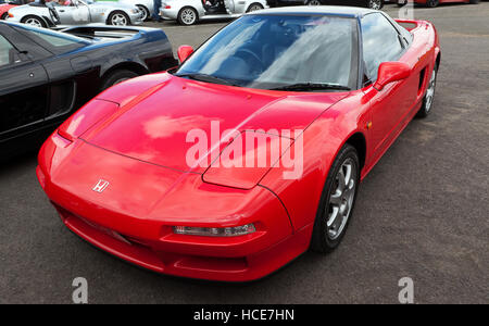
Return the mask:
M 42 126 L 49 79 L 41 64 L 20 51 L 0 26 L 0 142 Z

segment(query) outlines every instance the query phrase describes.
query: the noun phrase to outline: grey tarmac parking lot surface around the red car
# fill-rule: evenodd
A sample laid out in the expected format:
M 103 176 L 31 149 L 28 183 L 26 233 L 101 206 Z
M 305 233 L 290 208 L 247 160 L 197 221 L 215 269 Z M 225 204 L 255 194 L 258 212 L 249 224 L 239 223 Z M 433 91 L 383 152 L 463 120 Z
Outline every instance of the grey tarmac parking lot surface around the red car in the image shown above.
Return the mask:
M 385 11 L 398 16 L 396 5 Z M 75 277 L 89 303 L 489 302 L 489 2 L 416 8 L 441 41 L 432 113 L 414 120 L 361 186 L 342 244 L 308 252 L 251 284 L 147 272 L 71 234 L 36 179 L 36 155 L 0 165 L 0 303 L 71 303 Z M 198 47 L 226 22 L 161 27 L 176 49 Z

